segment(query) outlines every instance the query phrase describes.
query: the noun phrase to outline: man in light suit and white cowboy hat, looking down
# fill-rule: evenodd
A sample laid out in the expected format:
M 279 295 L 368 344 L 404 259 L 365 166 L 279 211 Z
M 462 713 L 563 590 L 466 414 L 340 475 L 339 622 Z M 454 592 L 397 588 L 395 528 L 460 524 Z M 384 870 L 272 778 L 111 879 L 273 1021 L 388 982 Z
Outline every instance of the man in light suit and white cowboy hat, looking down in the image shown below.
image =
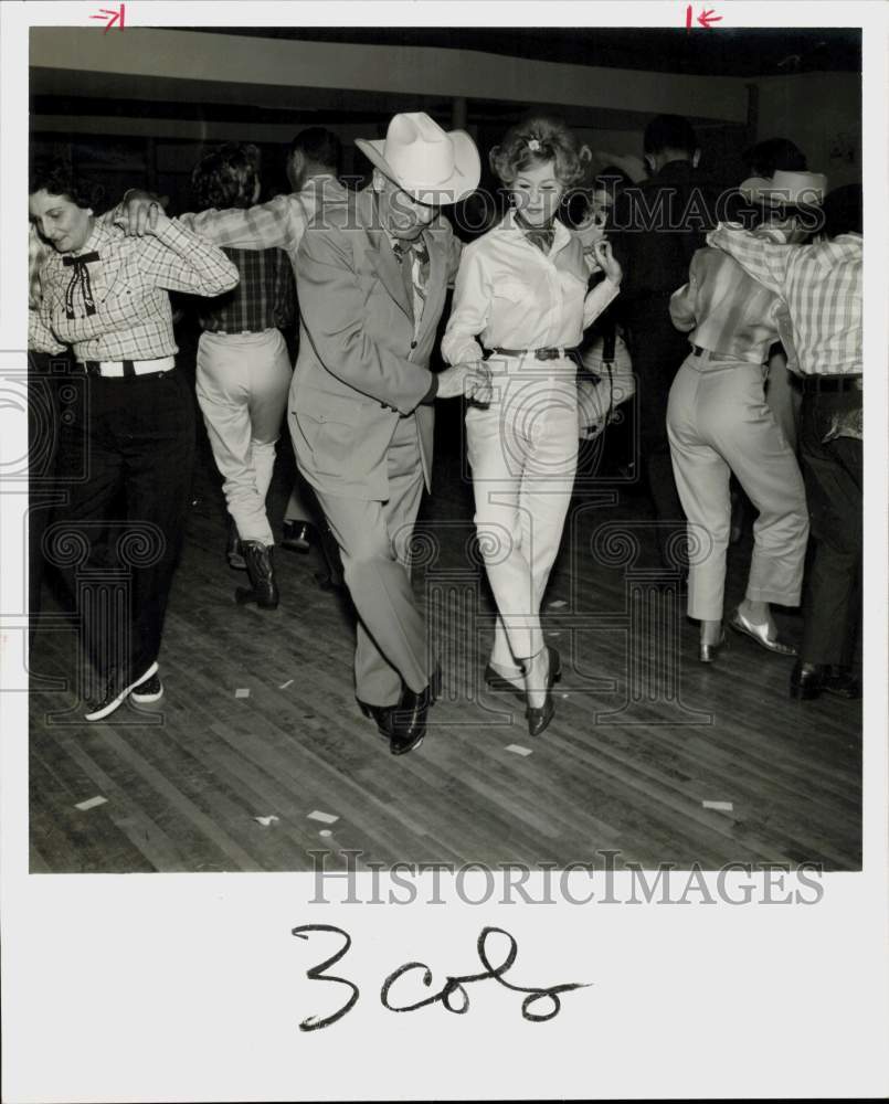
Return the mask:
M 357 698 L 398 755 L 423 739 L 441 679 L 406 562 L 430 486 L 433 403 L 490 397 L 479 364 L 427 367 L 459 259 L 438 206 L 473 192 L 480 166 L 467 134 L 422 112 L 357 145 L 374 166 L 371 185 L 313 220 L 297 254 L 289 424 L 358 612 Z

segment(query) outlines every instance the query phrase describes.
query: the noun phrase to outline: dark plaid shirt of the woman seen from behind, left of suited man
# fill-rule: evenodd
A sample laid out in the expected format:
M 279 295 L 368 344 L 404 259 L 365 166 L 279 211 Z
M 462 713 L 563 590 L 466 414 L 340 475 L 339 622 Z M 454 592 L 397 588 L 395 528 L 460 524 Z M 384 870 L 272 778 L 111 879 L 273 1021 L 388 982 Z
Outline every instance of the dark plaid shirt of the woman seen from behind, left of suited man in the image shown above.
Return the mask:
M 201 326 L 210 333 L 286 329 L 296 311 L 296 287 L 283 250 L 223 248 L 237 267 L 237 287 L 207 304 Z

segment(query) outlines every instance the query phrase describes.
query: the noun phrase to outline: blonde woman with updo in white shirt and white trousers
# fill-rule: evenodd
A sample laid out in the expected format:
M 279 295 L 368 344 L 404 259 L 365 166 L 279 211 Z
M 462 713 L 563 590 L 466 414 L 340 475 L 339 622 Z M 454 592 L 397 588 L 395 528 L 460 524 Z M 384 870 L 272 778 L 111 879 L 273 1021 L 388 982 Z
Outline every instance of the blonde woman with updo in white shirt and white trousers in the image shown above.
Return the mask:
M 466 413 L 476 531 L 498 611 L 485 679 L 526 701 L 531 735 L 552 720 L 560 675 L 558 652 L 543 646 L 540 603 L 578 464 L 570 354 L 622 277 L 611 246 L 599 242 L 605 279 L 588 291 L 583 245 L 557 220 L 586 159 L 571 130 L 548 116 L 512 127 L 490 151 L 510 210 L 464 248 L 442 342 L 449 363 L 487 357 L 491 371 L 491 402 Z

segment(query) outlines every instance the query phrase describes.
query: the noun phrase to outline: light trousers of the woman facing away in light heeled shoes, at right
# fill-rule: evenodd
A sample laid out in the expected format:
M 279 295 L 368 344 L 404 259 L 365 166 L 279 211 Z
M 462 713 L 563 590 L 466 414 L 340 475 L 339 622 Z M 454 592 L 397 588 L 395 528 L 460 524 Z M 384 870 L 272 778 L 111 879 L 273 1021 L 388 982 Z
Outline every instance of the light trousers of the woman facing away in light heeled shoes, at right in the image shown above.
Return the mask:
M 722 617 L 732 471 L 759 510 L 747 596 L 798 605 L 808 540 L 805 487 L 765 404 L 762 365 L 689 355 L 670 389 L 667 429 L 692 550 L 688 615 Z

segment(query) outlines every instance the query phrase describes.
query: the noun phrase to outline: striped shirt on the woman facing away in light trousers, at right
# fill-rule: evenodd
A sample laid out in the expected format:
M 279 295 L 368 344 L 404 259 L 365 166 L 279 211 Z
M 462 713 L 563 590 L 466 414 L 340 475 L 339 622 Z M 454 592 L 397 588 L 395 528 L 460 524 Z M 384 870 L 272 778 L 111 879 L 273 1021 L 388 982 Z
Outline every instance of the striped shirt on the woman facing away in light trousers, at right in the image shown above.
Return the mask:
M 698 250 L 688 283 L 670 297 L 670 318 L 692 344 L 763 364 L 777 340 L 781 300 L 720 250 Z

